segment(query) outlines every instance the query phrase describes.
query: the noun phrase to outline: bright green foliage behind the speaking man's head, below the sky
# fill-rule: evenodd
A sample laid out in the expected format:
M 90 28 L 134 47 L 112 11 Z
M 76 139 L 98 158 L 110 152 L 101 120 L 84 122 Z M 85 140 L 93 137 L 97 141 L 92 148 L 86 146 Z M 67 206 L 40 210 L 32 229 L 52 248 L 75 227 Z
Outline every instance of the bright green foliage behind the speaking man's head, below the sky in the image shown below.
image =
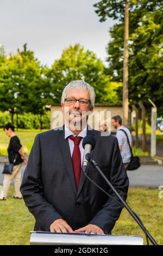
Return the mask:
M 47 129 L 46 105 L 60 103 L 62 90 L 74 80 L 90 83 L 95 88 L 96 102 L 120 103 L 116 90 L 121 84 L 110 82 L 95 53 L 76 44 L 64 50 L 52 68 L 47 68 L 25 44 L 22 51 L 0 59 L 0 109 L 8 111 L 19 128 L 38 129 L 40 123 L 41 129 Z M 1 127 L 7 123 L 5 118 L 4 113 Z

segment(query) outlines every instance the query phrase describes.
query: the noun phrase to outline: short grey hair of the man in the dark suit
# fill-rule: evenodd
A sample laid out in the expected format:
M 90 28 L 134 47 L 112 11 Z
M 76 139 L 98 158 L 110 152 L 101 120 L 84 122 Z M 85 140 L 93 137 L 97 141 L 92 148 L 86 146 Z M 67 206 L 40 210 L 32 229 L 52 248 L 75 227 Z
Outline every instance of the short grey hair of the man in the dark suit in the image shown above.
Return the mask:
M 95 90 L 92 86 L 90 86 L 89 83 L 86 83 L 83 80 L 76 80 L 76 81 L 72 81 L 67 84 L 67 86 L 64 88 L 64 90 L 62 92 L 62 97 L 61 97 L 62 104 L 64 104 L 64 102 L 65 102 L 68 90 L 71 90 L 73 88 L 78 89 L 78 90 L 88 90 L 89 95 L 90 95 L 90 101 L 91 101 L 90 108 L 92 109 L 93 107 L 95 107 L 95 96 L 96 96 Z

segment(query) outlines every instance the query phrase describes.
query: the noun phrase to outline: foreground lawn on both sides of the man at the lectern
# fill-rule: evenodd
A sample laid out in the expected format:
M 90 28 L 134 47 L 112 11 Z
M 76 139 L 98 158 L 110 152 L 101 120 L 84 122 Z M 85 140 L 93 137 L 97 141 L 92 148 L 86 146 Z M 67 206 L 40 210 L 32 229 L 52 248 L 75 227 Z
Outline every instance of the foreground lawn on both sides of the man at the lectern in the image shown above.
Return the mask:
M 130 187 L 127 201 L 156 242 L 163 245 L 163 198 L 159 199 L 158 193 L 158 189 Z M 7 201 L 0 201 L 0 245 L 29 245 L 29 231 L 33 230 L 34 217 L 28 212 L 23 200 L 12 199 L 13 195 L 14 187 L 11 186 Z M 145 235 L 125 209 L 122 210 L 112 235 L 140 235 L 146 244 Z

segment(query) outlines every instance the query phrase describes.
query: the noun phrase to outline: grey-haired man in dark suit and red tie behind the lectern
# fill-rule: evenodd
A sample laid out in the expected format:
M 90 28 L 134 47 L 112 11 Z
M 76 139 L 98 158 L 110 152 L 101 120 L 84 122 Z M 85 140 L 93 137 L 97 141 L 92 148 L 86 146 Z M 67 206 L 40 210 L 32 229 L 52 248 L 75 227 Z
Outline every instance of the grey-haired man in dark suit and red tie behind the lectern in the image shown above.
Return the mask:
M 81 172 L 83 137 L 93 135 L 96 145 L 91 156 L 126 200 L 129 181 L 116 137 L 101 136 L 86 125 L 86 113 L 94 105 L 93 88 L 84 81 L 71 82 L 62 93 L 65 125 L 35 138 L 21 185 L 26 206 L 36 220 L 34 230 L 109 234 L 120 217 L 122 207 Z M 117 199 L 90 163 L 87 175 Z

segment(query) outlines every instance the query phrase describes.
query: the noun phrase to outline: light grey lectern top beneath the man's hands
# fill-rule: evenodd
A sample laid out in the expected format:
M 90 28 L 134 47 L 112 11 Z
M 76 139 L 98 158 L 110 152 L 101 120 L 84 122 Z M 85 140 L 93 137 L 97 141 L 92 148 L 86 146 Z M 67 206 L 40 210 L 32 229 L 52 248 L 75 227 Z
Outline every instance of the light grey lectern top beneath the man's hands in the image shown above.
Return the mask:
M 30 245 L 143 245 L 143 238 L 133 235 L 94 235 L 36 231 Z

